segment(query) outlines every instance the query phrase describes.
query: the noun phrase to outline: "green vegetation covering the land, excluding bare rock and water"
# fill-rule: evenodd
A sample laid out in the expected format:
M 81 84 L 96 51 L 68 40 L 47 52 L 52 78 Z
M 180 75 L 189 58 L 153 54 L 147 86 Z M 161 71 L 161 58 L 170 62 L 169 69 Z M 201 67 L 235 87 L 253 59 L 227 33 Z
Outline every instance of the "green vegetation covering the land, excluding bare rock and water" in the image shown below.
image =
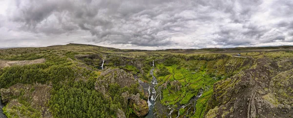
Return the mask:
M 115 118 L 117 109 L 125 112 L 127 117 L 135 114 L 122 97 L 122 93 L 140 93 L 140 98 L 147 99 L 143 89 L 137 81 L 128 87 L 122 87 L 114 79 L 103 80 L 98 84 L 98 79 L 107 78 L 107 69 L 123 69 L 129 77 L 149 83 L 152 61 L 155 61 L 154 76 L 158 80 L 157 88 L 161 88 L 164 107 L 170 106 L 179 110 L 179 115 L 184 116 L 189 108 L 181 108 L 182 105 L 192 103 L 193 98 L 200 91 L 203 94 L 197 99 L 194 114 L 188 118 L 215 117 L 220 103 L 225 104 L 232 98 L 225 95 L 228 90 L 236 86 L 245 76 L 244 70 L 256 69 L 261 64 L 256 59 L 268 58 L 277 60 L 265 65 L 265 71 L 273 72 L 271 67 L 286 70 L 286 73 L 273 78 L 272 85 L 264 90 L 258 90 L 263 94 L 262 98 L 271 102 L 275 107 L 278 104 L 291 104 L 292 83 L 288 82 L 292 76 L 293 52 L 290 47 L 282 47 L 284 50 L 269 52 L 269 48 L 227 48 L 227 49 L 200 49 L 200 50 L 120 50 L 94 45 L 68 44 L 63 46 L 51 46 L 43 48 L 14 48 L 0 50 L 0 88 L 10 88 L 20 91 L 20 95 L 11 93 L 7 105 L 3 108 L 8 118 L 40 118 L 44 117 L 46 110 L 54 118 Z M 272 48 L 278 49 L 278 48 Z M 223 52 L 226 51 L 225 54 Z M 231 51 L 231 52 L 229 52 Z M 241 53 L 242 57 L 232 55 Z M 43 59 L 42 63 L 21 63 L 20 60 Z M 99 70 L 105 59 L 105 70 Z M 9 62 L 20 62 L 21 64 Z M 8 65 L 8 66 L 7 66 Z M 7 67 L 4 67 L 7 66 Z M 123 71 L 124 72 L 124 71 Z M 127 75 L 125 74 L 125 75 Z M 102 75 L 102 76 L 101 76 Z M 284 75 L 284 77 L 282 77 Z M 118 75 L 115 73 L 113 78 Z M 124 80 L 125 78 L 119 78 Z M 262 77 L 253 77 L 255 80 L 263 80 Z M 134 80 L 134 79 L 133 79 Z M 21 84 L 21 85 L 18 85 Z M 36 105 L 35 96 L 42 96 L 46 86 L 48 99 Z M 27 87 L 29 86 L 29 87 Z M 101 87 L 97 90 L 95 87 Z M 38 88 L 39 87 L 39 88 Z M 41 90 L 40 90 L 41 88 Z M 273 88 L 273 89 L 272 89 Z M 14 91 L 15 91 L 14 90 Z M 278 93 L 277 96 L 268 92 Z M 213 96 L 215 93 L 217 96 Z M 235 90 L 235 92 L 238 92 Z M 38 95 L 40 94 L 40 95 Z M 291 99 L 284 100 L 284 98 Z M 216 100 L 215 100 L 216 99 Z M 48 101 L 48 102 L 47 102 Z M 190 105 L 191 106 L 191 105 Z M 42 107 L 42 108 L 41 108 Z M 159 111 L 159 110 L 157 110 Z M 229 112 L 223 112 L 225 116 Z M 177 115 L 176 115 L 177 116 Z

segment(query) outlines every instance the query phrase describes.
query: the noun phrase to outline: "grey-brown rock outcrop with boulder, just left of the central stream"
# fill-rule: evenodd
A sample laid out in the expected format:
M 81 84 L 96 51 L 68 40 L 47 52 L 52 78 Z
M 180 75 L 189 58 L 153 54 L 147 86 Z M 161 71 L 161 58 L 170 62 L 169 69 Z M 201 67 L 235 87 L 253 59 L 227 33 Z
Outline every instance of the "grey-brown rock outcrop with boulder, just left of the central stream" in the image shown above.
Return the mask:
M 146 100 L 142 99 L 144 97 L 143 87 L 138 84 L 138 80 L 134 79 L 132 74 L 127 73 L 125 70 L 118 68 L 109 68 L 105 70 L 95 82 L 95 90 L 103 93 L 105 97 L 112 97 L 108 94 L 109 89 L 111 89 L 109 85 L 115 83 L 118 84 L 120 88 L 134 87 L 134 92 L 129 93 L 129 91 L 126 91 L 121 94 L 121 97 L 124 98 L 123 103 L 131 108 L 136 116 L 145 116 L 148 113 L 148 105 Z M 136 90 L 138 90 L 137 94 L 134 95 Z M 128 109 L 123 110 L 127 112 Z M 117 112 L 117 114 L 119 113 L 119 117 L 123 114 L 122 112 L 123 111 Z

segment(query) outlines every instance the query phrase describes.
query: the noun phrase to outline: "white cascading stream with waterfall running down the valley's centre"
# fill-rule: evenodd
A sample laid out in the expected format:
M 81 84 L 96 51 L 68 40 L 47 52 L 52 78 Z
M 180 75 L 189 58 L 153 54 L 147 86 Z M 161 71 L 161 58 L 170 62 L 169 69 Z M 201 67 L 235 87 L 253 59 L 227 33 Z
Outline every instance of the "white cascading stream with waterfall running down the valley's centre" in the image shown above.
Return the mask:
M 158 84 L 156 77 L 154 76 L 154 61 L 152 63 L 153 68 L 150 70 L 150 75 L 152 76 L 151 83 L 148 87 L 148 99 L 147 99 L 147 104 L 148 104 L 148 114 L 146 115 L 146 118 L 155 118 L 153 108 L 155 105 L 155 97 L 156 97 L 156 90 L 155 86 Z

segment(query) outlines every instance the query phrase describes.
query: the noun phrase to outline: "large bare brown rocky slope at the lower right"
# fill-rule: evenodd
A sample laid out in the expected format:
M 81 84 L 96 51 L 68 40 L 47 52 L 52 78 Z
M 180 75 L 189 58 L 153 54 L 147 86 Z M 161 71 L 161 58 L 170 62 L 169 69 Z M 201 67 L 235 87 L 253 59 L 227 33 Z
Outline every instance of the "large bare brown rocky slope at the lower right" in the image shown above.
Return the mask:
M 254 67 L 218 81 L 206 118 L 293 117 L 293 59 L 255 59 Z

